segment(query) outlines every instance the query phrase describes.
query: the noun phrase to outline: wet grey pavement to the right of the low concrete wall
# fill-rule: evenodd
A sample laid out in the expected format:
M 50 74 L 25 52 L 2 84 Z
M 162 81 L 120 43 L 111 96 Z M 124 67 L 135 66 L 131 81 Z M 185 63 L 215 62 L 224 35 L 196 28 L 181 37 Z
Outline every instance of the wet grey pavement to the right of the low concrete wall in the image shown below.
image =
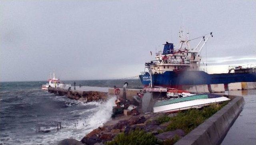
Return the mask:
M 256 90 L 229 91 L 244 96 L 244 108 L 221 145 L 256 145 Z

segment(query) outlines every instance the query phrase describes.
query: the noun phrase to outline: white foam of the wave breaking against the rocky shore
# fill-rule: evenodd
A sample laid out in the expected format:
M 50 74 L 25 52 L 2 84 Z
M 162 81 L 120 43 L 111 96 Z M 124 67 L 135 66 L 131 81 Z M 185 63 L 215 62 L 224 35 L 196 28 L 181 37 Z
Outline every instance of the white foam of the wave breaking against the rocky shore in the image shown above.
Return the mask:
M 79 105 L 96 105 L 96 107 L 84 110 L 82 113 L 80 113 L 86 114 L 86 112 L 92 111 L 93 113 L 89 117 L 85 116 L 84 118 L 82 117 L 82 119 L 74 122 L 63 121 L 63 124 L 65 125 L 63 129 L 57 131 L 56 128 L 51 127 L 49 128 L 49 130 L 51 130 L 49 135 L 44 135 L 43 137 L 38 135 L 38 137 L 34 137 L 29 142 L 31 144 L 56 144 L 58 141 L 68 138 L 81 140 L 90 131 L 98 128 L 111 119 L 114 101 L 115 97 L 110 97 L 110 99 L 108 99 L 106 102 L 79 103 Z M 75 122 L 76 127 L 74 126 Z

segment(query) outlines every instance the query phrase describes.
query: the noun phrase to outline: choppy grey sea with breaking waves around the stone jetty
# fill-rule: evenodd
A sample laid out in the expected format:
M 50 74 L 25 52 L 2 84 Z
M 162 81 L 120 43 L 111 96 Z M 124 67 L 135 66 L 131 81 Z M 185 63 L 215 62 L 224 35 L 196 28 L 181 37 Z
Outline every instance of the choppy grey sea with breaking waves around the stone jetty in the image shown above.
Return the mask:
M 128 88 L 142 88 L 138 79 L 76 80 L 76 85 L 96 89 L 113 85 L 122 87 L 125 81 L 129 83 Z M 81 140 L 87 133 L 110 120 L 115 97 L 110 96 L 105 102 L 82 103 L 42 90 L 41 86 L 45 83 L 0 83 L 0 144 L 57 144 L 67 138 Z M 58 122 L 63 127 L 59 131 Z M 46 130 L 50 132 L 41 132 Z

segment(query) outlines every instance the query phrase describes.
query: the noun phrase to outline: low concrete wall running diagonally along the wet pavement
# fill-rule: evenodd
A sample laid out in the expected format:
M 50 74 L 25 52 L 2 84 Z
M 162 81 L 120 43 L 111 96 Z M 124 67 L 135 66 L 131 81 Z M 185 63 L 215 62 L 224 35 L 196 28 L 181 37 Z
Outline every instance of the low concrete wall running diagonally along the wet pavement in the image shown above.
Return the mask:
M 244 105 L 242 96 L 230 96 L 230 99 L 232 101 L 180 139 L 175 145 L 219 145 Z

